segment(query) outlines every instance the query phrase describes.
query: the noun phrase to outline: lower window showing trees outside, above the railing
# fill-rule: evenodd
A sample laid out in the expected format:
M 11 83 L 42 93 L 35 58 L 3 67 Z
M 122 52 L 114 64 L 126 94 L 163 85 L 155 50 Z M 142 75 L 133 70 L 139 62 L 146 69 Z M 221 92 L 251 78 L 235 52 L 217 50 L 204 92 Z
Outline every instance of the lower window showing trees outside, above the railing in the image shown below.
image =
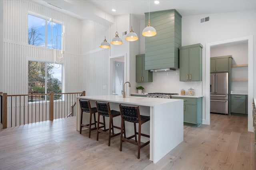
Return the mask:
M 28 94 L 50 92 L 62 92 L 62 65 L 55 68 L 53 63 L 28 61 Z

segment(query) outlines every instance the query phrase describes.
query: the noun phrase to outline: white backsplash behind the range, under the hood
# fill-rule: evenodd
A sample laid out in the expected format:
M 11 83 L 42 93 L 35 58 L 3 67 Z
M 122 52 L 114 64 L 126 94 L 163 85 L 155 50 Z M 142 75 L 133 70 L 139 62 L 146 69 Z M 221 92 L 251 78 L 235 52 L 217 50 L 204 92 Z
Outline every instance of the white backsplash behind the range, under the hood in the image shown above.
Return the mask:
M 202 82 L 180 82 L 180 70 L 168 72 L 153 72 L 153 82 L 137 83 L 137 86 L 143 86 L 144 93 L 178 93 L 184 89 L 186 95 L 188 89 L 194 89 L 194 95 L 202 95 Z M 131 90 L 131 93 L 137 93 Z

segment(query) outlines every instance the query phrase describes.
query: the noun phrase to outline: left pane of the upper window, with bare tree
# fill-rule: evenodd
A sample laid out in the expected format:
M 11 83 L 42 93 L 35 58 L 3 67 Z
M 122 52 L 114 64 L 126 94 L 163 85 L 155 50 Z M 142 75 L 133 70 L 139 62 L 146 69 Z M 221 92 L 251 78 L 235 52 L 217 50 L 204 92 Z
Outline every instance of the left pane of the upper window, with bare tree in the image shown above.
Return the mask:
M 45 47 L 45 20 L 29 14 L 28 44 Z

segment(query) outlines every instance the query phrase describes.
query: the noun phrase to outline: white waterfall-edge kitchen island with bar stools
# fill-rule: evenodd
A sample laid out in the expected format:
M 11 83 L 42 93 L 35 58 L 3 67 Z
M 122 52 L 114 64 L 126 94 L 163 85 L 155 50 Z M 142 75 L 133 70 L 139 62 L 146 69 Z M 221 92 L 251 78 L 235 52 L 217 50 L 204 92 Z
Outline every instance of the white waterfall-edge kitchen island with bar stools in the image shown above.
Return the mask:
M 110 109 L 117 111 L 119 111 L 119 104 L 139 106 L 141 115 L 150 115 L 150 123 L 144 123 L 142 131 L 145 134 L 150 134 L 150 160 L 154 163 L 183 141 L 183 100 L 136 96 L 122 98 L 122 96 L 116 95 L 78 96 L 76 101 L 78 104 L 76 107 L 77 131 L 80 130 L 79 99 L 90 100 L 92 107 L 96 106 L 95 101 L 109 102 Z M 115 117 L 113 121 L 114 124 L 120 125 L 121 118 Z M 126 131 L 126 134 L 129 133 L 132 131 Z

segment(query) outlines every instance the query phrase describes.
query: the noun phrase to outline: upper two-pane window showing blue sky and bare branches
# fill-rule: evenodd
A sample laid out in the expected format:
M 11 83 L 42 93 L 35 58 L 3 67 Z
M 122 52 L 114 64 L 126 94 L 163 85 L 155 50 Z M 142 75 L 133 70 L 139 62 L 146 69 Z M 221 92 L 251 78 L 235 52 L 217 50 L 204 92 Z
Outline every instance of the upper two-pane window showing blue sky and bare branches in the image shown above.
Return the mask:
M 28 44 L 62 50 L 62 25 L 28 14 Z

